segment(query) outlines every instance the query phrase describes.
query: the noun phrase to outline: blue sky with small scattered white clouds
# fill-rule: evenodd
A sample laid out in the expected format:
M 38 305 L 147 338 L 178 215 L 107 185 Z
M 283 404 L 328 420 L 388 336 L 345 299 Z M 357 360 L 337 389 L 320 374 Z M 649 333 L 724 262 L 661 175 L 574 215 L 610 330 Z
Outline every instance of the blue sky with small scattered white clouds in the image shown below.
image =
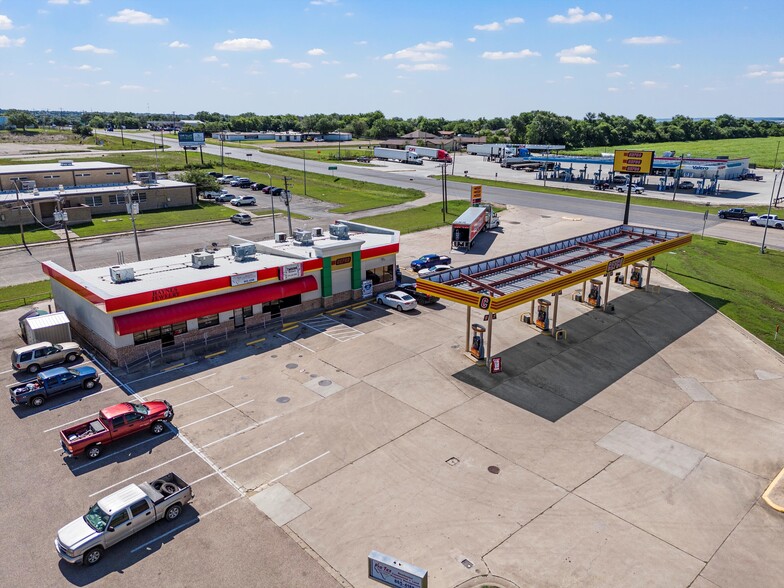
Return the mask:
M 1 108 L 784 116 L 784 3 L 0 0 Z

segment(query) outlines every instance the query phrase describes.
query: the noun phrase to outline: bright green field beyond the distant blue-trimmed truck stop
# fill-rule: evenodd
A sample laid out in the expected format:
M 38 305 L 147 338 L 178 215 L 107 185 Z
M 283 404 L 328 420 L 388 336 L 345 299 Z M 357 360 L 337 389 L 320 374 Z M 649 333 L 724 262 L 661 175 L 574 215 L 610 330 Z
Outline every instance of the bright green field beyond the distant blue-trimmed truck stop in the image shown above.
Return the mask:
M 764 137 L 757 139 L 715 139 L 710 141 L 682 141 L 666 143 L 643 143 L 641 145 L 615 145 L 607 147 L 585 147 L 574 151 L 564 151 L 564 154 L 599 155 L 612 153 L 616 149 L 649 149 L 661 156 L 664 151 L 675 151 L 676 157 L 690 153 L 692 157 L 713 158 L 717 155 L 728 155 L 730 158 L 748 157 L 750 163 L 771 169 L 774 166 L 773 158 L 776 149 L 784 148 L 784 137 Z M 776 164 L 781 165 L 784 151 L 779 149 Z

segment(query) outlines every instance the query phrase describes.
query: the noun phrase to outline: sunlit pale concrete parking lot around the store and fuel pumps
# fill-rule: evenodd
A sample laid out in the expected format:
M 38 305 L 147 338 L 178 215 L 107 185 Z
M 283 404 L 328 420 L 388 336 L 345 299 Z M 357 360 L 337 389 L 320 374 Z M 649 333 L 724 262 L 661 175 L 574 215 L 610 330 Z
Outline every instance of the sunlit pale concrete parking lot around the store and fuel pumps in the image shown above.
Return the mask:
M 607 221 L 511 207 L 502 226 L 453 263 Z M 401 267 L 445 239 L 411 236 Z M 564 296 L 561 342 L 520 320 L 527 306 L 500 314 L 493 376 L 463 354 L 464 307 L 359 302 L 149 373 L 99 365 L 89 394 L 7 406 L 0 541 L 15 556 L 0 583 L 376 586 L 375 549 L 431 586 L 779 585 L 784 521 L 759 497 L 784 466 L 784 361 L 653 277 L 651 292 L 612 284 L 612 314 Z M 0 316 L 6 332 L 19 314 Z M 62 457 L 61 428 L 129 395 L 168 400 L 172 431 Z M 95 567 L 59 562 L 58 528 L 168 471 L 195 494 L 176 523 Z

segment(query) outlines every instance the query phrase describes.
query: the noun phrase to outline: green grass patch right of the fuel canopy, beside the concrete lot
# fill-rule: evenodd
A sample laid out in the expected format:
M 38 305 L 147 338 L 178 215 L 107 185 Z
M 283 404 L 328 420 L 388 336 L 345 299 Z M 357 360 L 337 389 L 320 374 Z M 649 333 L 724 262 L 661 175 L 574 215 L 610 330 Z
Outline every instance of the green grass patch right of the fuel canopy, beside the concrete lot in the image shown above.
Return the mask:
M 784 353 L 784 252 L 719 239 L 694 238 L 654 265 L 740 326 Z

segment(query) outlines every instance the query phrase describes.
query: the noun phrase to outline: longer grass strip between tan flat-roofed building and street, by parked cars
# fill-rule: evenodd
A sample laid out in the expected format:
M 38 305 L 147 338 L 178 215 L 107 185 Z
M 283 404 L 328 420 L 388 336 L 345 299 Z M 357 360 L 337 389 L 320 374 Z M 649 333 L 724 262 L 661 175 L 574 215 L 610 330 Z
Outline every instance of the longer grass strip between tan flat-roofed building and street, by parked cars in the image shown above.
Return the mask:
M 224 220 L 235 212 L 231 208 L 213 202 L 199 202 L 196 206 L 184 206 L 181 208 L 149 210 L 136 215 L 136 230 L 143 231 L 145 229 L 159 229 L 161 227 L 173 227 L 211 220 Z M 92 237 L 133 230 L 131 217 L 125 213 L 96 215 L 93 217 L 92 223 L 76 225 L 71 228 L 80 237 Z

